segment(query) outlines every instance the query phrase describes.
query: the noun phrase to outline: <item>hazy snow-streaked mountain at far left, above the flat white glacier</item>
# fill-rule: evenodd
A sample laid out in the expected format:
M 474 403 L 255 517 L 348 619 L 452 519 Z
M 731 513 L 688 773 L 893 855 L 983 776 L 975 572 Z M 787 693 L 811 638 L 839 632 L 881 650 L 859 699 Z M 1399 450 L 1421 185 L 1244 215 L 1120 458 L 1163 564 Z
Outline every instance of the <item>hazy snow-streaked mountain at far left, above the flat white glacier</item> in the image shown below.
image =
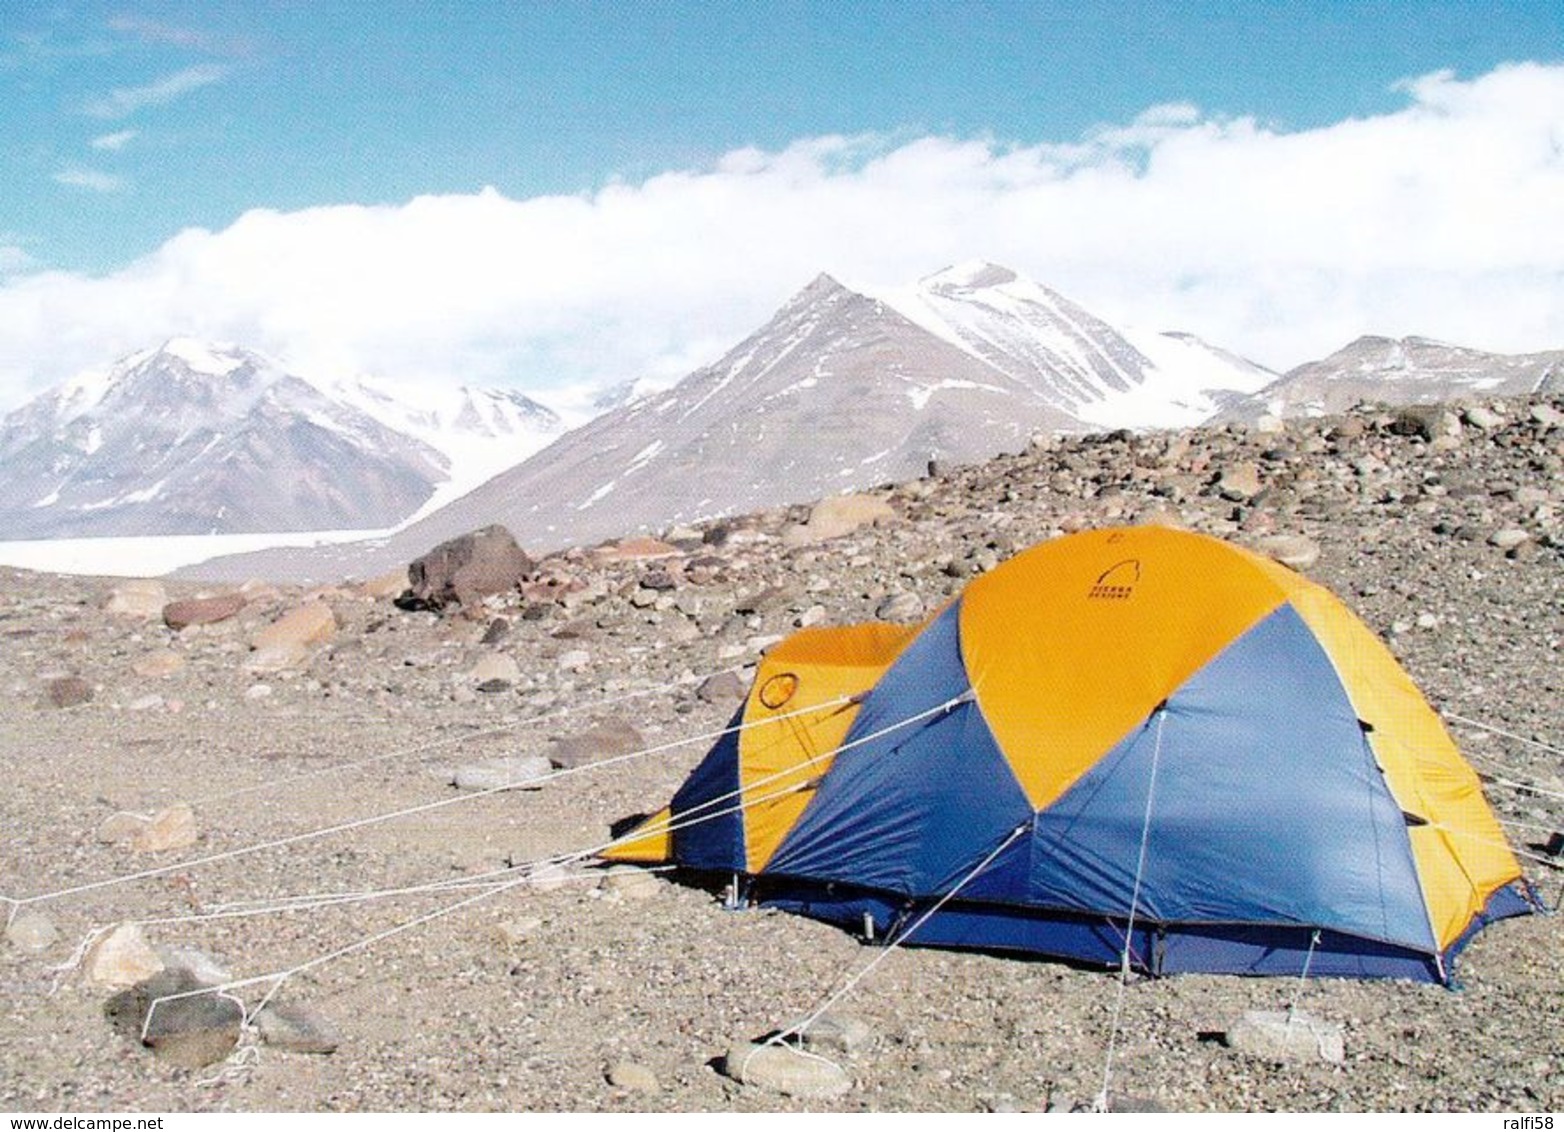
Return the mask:
M 551 421 L 533 410 L 541 407 L 461 391 L 441 416 L 371 383 L 333 396 L 241 347 L 177 338 L 0 421 L 0 532 L 383 530 L 435 499 L 454 472 L 466 489 L 504 466 L 490 457 L 472 467 L 485 444 L 510 444 L 513 460 L 535 450 Z

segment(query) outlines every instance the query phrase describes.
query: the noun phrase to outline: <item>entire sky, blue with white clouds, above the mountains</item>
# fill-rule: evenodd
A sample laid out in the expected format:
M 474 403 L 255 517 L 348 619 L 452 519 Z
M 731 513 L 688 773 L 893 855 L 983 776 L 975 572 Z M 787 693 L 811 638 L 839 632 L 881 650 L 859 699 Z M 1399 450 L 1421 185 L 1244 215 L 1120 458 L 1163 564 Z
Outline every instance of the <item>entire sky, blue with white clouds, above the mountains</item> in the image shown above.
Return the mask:
M 0 410 L 174 335 L 568 399 L 973 258 L 1564 349 L 1564 5 L 0 0 Z

